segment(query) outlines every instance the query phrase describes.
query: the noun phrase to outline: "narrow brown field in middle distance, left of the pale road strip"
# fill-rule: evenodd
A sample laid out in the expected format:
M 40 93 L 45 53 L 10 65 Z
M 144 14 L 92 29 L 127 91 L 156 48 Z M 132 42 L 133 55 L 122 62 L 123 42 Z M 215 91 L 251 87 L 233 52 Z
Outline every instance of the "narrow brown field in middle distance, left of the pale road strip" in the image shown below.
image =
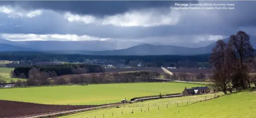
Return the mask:
M 152 67 L 105 68 L 105 71 L 109 73 L 119 73 L 119 72 L 128 72 L 128 71 L 157 71 L 158 73 L 165 73 L 161 68 L 152 68 Z

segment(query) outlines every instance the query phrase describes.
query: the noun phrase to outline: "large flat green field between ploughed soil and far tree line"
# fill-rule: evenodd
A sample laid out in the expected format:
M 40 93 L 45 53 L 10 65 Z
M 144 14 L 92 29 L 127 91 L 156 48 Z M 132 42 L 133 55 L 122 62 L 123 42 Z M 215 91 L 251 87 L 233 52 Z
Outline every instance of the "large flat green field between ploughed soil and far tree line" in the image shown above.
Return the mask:
M 38 102 L 43 104 L 103 104 L 130 100 L 133 97 L 181 93 L 187 83 L 93 84 L 87 86 L 55 86 L 0 89 L 0 100 Z M 4 95 L 3 95 L 4 94 Z

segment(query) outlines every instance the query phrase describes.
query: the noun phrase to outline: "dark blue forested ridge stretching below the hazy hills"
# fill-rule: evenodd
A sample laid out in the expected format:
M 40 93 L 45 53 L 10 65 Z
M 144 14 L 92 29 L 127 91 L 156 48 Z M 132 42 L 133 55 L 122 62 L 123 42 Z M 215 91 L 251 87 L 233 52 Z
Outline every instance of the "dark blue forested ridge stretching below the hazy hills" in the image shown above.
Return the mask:
M 0 60 L 31 60 L 33 62 L 45 62 L 52 60 L 67 62 L 83 62 L 85 59 L 104 59 L 104 60 L 143 60 L 145 62 L 177 62 L 177 61 L 194 61 L 208 62 L 210 54 L 203 55 L 146 55 L 146 56 L 120 56 L 120 55 L 80 55 L 80 54 L 49 54 L 44 52 L 32 51 L 16 51 L 16 52 L 0 52 Z

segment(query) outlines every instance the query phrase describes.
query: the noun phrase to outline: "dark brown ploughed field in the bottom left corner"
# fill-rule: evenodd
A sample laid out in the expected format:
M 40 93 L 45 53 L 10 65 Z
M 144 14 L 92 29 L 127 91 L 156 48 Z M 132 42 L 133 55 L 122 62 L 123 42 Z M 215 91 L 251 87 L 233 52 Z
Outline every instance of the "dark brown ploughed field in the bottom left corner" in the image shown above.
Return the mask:
M 91 108 L 96 105 L 42 105 L 27 102 L 0 100 L 0 118 L 32 113 L 42 113 L 69 108 Z

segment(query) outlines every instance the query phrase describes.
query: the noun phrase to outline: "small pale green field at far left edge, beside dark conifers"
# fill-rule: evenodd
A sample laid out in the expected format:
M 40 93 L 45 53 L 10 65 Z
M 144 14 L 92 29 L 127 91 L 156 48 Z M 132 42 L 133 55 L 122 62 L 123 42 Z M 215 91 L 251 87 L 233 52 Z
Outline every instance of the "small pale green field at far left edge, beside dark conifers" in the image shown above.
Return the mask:
M 11 80 L 18 81 L 19 78 L 11 78 L 10 72 L 13 71 L 14 68 L 0 68 L 0 79 L 5 80 L 6 82 L 10 82 Z M 25 81 L 25 79 L 20 79 Z

